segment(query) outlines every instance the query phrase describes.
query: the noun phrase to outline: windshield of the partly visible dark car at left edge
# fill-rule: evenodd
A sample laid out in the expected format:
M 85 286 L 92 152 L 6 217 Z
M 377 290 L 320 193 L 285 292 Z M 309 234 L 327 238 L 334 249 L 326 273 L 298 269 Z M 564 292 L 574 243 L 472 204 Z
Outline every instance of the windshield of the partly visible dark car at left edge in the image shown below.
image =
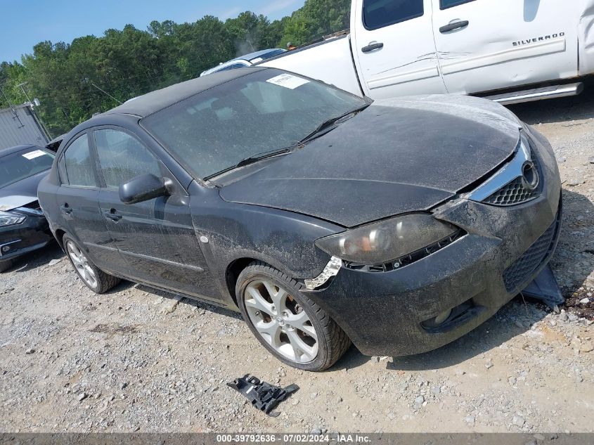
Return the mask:
M 53 156 L 53 153 L 39 147 L 0 155 L 0 188 L 49 170 Z

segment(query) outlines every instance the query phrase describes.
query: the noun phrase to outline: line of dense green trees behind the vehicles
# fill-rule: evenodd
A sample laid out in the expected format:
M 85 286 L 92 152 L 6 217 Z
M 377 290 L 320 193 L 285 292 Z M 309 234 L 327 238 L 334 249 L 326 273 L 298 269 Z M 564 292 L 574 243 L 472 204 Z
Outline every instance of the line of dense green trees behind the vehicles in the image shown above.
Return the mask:
M 155 89 L 198 77 L 225 60 L 259 49 L 297 46 L 349 27 L 350 0 L 306 0 L 280 20 L 250 11 L 225 21 L 126 25 L 70 44 L 42 41 L 18 61 L 0 63 L 0 108 L 39 98 L 37 112 L 53 136 Z

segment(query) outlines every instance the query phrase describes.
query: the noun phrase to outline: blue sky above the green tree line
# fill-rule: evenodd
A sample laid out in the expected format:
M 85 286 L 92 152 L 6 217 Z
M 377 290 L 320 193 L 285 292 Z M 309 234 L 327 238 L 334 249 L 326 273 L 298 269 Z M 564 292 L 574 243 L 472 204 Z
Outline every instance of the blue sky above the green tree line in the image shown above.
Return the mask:
M 146 30 L 153 20 L 194 22 L 204 15 L 221 20 L 243 11 L 274 20 L 303 6 L 304 0 L 0 0 L 0 61 L 32 53 L 40 41 L 70 43 L 76 37 L 97 37 L 131 23 Z

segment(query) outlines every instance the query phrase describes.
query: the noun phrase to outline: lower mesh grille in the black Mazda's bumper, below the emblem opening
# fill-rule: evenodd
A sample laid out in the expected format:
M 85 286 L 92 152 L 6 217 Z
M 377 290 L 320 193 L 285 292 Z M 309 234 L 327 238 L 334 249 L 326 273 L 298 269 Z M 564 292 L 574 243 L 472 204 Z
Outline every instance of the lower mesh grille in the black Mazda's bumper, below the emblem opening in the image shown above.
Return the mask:
M 516 290 L 519 285 L 541 266 L 553 250 L 557 228 L 559 228 L 560 217 L 538 238 L 529 249 L 522 254 L 508 269 L 503 272 L 503 283 L 508 292 Z

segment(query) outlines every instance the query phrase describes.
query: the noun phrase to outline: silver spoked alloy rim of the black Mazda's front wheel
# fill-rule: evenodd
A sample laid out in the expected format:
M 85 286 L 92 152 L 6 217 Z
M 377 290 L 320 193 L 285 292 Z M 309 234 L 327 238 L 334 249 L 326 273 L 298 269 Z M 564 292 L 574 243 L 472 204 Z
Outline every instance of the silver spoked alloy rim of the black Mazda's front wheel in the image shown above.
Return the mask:
M 243 298 L 252 325 L 278 354 L 297 363 L 316 359 L 316 329 L 289 292 L 259 279 L 247 285 Z

